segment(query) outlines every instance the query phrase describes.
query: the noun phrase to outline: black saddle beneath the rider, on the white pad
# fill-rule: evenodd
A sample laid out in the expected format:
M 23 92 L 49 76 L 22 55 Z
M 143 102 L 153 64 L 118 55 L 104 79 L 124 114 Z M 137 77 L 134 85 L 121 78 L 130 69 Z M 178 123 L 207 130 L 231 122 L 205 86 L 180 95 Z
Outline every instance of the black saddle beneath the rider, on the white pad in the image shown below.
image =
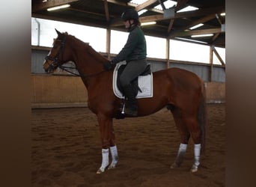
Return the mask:
M 121 76 L 121 73 L 123 73 L 125 67 L 126 67 L 126 64 L 123 64 L 119 67 L 118 80 L 117 80 L 118 89 L 119 91 L 121 91 L 121 93 L 123 93 L 123 95 L 124 95 L 124 91 L 120 83 L 120 76 Z M 150 75 L 150 73 L 151 73 L 150 64 L 147 64 L 147 67 L 145 68 L 145 70 L 138 76 L 147 76 L 147 75 Z M 138 77 L 132 80 L 131 85 L 134 89 L 135 95 L 138 94 L 138 91 L 142 92 L 141 89 L 138 87 Z

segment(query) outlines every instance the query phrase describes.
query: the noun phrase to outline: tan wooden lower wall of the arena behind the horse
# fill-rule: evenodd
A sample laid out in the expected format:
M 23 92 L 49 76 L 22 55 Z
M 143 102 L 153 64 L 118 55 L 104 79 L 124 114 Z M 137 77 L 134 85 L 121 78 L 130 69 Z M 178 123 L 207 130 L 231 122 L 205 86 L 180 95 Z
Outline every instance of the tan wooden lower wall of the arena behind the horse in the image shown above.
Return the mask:
M 205 82 L 207 103 L 225 102 L 225 83 Z M 31 75 L 31 108 L 86 107 L 88 94 L 76 76 Z

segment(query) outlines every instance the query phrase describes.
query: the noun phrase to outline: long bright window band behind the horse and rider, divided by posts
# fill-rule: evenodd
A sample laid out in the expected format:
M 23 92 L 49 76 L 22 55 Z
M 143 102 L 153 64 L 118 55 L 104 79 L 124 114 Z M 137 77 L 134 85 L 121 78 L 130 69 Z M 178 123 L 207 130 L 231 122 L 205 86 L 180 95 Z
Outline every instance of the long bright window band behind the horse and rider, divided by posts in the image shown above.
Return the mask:
M 57 37 L 58 31 L 67 31 L 90 45 L 97 52 L 106 52 L 106 29 L 85 25 L 76 25 L 67 22 L 58 22 L 48 19 L 31 18 L 31 45 L 52 47 L 53 39 Z M 128 32 L 111 31 L 110 52 L 118 54 L 127 42 Z M 145 36 L 147 41 L 148 58 L 166 58 L 166 40 L 160 37 Z M 216 51 L 225 62 L 225 48 L 216 47 Z M 170 59 L 177 61 L 192 61 L 209 64 L 210 47 L 188 43 L 179 40 L 170 40 Z M 213 64 L 221 64 L 213 53 Z

